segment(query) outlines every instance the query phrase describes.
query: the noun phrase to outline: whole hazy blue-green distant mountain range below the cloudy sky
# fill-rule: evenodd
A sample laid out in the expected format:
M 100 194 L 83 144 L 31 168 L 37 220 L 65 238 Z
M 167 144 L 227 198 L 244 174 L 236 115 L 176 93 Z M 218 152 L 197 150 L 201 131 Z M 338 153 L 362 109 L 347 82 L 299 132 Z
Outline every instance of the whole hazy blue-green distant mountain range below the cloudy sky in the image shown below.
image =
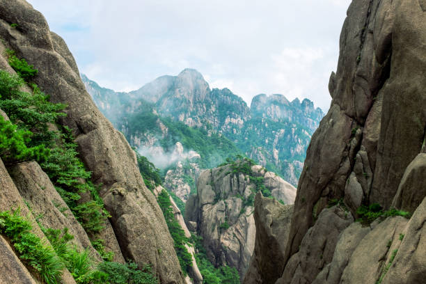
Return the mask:
M 84 75 L 82 79 L 104 115 L 152 161 L 171 161 L 166 154 L 177 142 L 184 152 L 196 151 L 201 161 L 196 168 L 189 166 L 191 173 L 217 166 L 226 155 L 244 153 L 297 185 L 310 137 L 324 116 L 310 100 L 290 102 L 279 94 L 257 95 L 248 107 L 228 88 L 210 89 L 194 69 L 159 77 L 129 93 L 102 88 Z M 173 175 L 174 165 L 155 164 L 170 168 Z

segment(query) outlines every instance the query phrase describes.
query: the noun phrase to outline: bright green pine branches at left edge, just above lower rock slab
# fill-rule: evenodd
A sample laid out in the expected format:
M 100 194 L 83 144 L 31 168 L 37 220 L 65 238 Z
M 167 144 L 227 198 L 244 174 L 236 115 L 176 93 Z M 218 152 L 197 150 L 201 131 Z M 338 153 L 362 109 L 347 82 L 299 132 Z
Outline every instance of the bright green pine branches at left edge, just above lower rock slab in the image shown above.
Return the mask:
M 0 116 L 0 157 L 4 164 L 16 164 L 20 161 L 43 161 L 49 155 L 44 145 L 29 147 L 32 133 L 17 129 L 16 125 Z

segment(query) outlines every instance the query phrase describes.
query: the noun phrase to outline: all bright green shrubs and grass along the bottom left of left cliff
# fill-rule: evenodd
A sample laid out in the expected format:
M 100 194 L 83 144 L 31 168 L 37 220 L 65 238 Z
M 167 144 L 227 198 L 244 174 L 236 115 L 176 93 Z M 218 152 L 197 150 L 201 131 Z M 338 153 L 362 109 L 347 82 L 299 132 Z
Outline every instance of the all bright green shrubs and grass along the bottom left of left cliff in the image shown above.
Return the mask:
M 40 226 L 49 243 L 31 232 L 32 228 L 31 223 L 20 216 L 19 210 L 0 212 L 1 235 L 9 239 L 19 258 L 43 283 L 61 283 L 64 268 L 70 271 L 77 284 L 158 283 L 148 266 L 139 270 L 134 262 L 125 265 L 100 262 L 96 265 L 87 249 L 79 251 L 71 243 L 74 236 L 67 228 L 61 231 Z

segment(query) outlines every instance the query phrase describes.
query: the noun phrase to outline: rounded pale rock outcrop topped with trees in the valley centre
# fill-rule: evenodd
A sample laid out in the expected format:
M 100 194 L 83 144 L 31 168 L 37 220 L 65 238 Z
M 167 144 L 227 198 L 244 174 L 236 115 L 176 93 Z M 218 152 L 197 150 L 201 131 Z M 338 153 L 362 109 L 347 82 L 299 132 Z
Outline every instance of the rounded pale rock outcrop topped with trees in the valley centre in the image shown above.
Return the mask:
M 255 245 L 253 200 L 259 191 L 291 204 L 296 189 L 248 159 L 237 160 L 201 173 L 197 195 L 185 208 L 185 221 L 203 237 L 207 257 L 215 266 L 235 267 L 241 279 Z

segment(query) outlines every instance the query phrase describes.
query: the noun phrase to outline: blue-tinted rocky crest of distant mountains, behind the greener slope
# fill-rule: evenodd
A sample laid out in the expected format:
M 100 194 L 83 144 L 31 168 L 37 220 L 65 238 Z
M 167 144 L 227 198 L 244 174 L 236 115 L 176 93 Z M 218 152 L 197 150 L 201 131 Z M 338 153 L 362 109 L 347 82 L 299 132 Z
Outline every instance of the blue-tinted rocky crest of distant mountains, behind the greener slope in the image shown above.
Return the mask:
M 204 129 L 207 135 L 223 135 L 245 155 L 293 185 L 297 185 L 301 173 L 304 149 L 324 116 L 321 109 L 315 109 L 308 99 L 290 102 L 279 94 L 256 95 L 248 107 L 242 97 L 228 88 L 210 89 L 203 75 L 189 68 L 177 76 L 161 76 L 138 90 L 116 95 L 111 93 L 112 90 L 97 88 L 99 85 L 85 75 L 81 77 L 97 106 L 129 141 L 146 139 L 140 136 L 141 133 L 136 137 L 132 134 L 130 139 L 127 127 L 136 112 L 149 111 L 189 127 Z M 275 101 L 279 100 L 274 100 L 277 97 L 288 103 L 278 105 Z M 114 105 L 113 110 L 111 105 Z

